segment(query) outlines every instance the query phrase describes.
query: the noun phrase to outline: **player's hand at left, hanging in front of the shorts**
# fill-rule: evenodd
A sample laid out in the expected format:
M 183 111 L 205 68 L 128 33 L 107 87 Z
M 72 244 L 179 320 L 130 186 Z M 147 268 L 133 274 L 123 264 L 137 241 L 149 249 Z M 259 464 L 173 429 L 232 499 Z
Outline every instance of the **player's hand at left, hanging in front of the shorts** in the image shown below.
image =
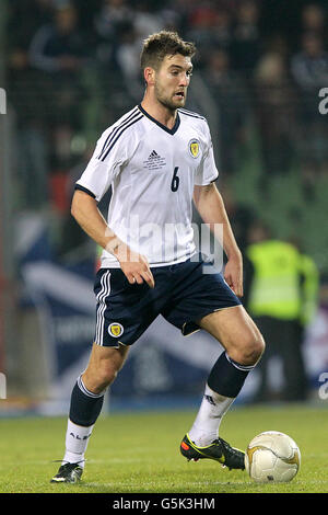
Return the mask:
M 130 284 L 142 284 L 145 281 L 150 288 L 154 288 L 154 277 L 144 255 L 131 251 L 127 245 L 120 245 L 116 256 Z

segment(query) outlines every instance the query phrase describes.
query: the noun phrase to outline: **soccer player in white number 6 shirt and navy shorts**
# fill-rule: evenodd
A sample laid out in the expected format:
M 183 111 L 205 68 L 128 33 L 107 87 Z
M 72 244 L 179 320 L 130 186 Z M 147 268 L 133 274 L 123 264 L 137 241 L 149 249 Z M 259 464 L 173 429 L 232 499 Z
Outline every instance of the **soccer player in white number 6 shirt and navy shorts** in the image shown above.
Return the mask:
M 77 482 L 101 413 L 104 391 L 129 346 L 162 314 L 187 335 L 203 329 L 224 352 L 180 451 L 244 469 L 244 453 L 219 436 L 225 412 L 263 351 L 263 340 L 238 297 L 242 255 L 214 181 L 207 121 L 184 108 L 196 48 L 176 33 L 145 39 L 140 105 L 104 131 L 72 199 L 72 215 L 104 251 L 97 272 L 95 339 L 86 369 L 71 394 L 66 453 L 52 482 Z M 108 221 L 97 208 L 112 185 Z M 196 253 L 192 198 L 213 231 L 223 226 L 224 277 Z M 210 272 L 210 273 L 209 273 Z

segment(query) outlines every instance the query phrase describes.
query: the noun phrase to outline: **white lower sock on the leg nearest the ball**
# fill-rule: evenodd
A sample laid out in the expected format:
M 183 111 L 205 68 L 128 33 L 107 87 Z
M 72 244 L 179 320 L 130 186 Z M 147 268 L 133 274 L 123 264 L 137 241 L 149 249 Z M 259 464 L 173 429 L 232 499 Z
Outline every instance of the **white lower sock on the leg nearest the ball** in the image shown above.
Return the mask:
M 219 437 L 219 427 L 223 415 L 235 399 L 223 397 L 211 390 L 207 385 L 204 396 L 194 425 L 189 431 L 189 438 L 199 447 L 210 445 Z

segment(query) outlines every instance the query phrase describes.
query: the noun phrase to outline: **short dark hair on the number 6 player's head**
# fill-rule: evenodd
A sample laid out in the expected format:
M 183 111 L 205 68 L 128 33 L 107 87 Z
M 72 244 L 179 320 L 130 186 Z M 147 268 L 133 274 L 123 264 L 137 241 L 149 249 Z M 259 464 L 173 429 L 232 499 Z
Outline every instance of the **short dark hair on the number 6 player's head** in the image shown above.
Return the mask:
M 144 39 L 143 48 L 140 56 L 141 69 L 148 66 L 157 70 L 165 56 L 192 57 L 196 54 L 196 46 L 191 42 L 185 42 L 176 32 L 161 31 L 151 34 Z

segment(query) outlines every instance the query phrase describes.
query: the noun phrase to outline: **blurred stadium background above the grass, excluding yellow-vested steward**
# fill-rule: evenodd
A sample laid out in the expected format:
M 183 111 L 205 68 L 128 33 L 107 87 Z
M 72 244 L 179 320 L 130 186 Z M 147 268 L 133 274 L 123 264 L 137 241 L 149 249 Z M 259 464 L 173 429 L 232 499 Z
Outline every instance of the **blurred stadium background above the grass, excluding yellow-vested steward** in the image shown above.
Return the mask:
M 162 28 L 198 46 L 187 107 L 209 121 L 218 186 L 241 248 L 249 225 L 262 220 L 319 271 L 302 350 L 306 399 L 320 401 L 328 373 L 328 114 L 319 112 L 327 23 L 325 0 L 1 0 L 0 415 L 67 412 L 95 310 L 96 249 L 70 216 L 73 185 L 101 131 L 140 101 L 141 42 Z M 218 354 L 207 335 L 184 340 L 159 320 L 132 348 L 107 404 L 194 405 Z M 280 400 L 279 355 L 269 376 Z M 239 402 L 254 401 L 257 381 L 255 371 Z

